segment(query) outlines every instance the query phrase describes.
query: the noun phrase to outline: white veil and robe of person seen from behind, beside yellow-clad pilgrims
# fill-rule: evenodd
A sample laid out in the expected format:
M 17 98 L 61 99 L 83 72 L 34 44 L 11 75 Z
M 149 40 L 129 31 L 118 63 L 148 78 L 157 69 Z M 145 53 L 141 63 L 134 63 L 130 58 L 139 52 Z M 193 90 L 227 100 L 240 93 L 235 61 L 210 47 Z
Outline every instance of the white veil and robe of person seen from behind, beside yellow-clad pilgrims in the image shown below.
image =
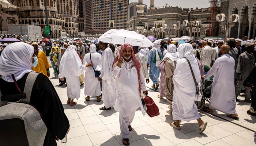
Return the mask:
M 76 98 L 78 100 L 80 97 L 79 76 L 83 73 L 85 65 L 82 65 L 75 49 L 75 46 L 68 46 L 61 57 L 59 78 L 66 78 L 67 96 L 71 99 Z

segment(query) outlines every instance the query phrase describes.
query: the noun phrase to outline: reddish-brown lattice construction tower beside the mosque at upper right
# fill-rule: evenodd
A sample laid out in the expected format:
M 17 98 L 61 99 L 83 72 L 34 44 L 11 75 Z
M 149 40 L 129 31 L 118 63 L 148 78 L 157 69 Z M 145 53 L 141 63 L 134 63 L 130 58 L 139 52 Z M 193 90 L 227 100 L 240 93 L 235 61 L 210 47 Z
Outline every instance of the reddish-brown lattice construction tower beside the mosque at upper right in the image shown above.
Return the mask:
M 210 11 L 210 37 L 214 37 L 214 23 L 215 23 L 215 12 L 221 7 L 221 0 L 209 0 L 211 4 L 211 11 Z

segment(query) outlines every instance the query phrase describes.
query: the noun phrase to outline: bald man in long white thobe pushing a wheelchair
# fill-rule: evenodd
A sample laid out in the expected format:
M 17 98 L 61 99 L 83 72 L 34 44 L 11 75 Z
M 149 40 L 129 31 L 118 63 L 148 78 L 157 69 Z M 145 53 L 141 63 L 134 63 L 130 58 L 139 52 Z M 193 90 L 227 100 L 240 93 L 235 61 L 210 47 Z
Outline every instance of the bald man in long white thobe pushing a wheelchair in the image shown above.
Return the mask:
M 215 61 L 203 78 L 206 80 L 214 75 L 209 107 L 230 114 L 227 115 L 230 118 L 238 119 L 233 75 L 235 61 L 229 55 L 229 50 L 228 45 L 221 46 L 220 51 L 223 55 Z M 207 111 L 209 110 L 211 109 L 207 108 Z

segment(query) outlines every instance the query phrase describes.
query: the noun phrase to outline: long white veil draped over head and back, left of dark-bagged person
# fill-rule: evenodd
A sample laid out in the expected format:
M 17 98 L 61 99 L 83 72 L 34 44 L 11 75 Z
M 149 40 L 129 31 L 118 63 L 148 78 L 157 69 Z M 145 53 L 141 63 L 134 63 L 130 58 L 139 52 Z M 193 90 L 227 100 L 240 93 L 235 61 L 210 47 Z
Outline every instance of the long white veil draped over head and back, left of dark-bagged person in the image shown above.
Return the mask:
M 61 57 L 59 68 L 60 78 L 68 76 L 80 76 L 83 73 L 85 65 L 82 65 L 82 62 L 75 50 L 75 46 L 68 46 L 67 50 Z

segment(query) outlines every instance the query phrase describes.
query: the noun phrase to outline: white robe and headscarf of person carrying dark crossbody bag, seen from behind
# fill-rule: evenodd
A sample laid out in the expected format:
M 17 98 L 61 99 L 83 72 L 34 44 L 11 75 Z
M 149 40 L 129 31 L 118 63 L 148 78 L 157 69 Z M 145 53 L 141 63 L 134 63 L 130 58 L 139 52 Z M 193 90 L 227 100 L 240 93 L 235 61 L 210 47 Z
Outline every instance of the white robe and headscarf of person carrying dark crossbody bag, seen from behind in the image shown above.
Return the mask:
M 91 54 L 91 59 L 90 59 Z M 93 63 L 95 70 L 101 70 L 101 54 L 96 52 L 96 46 L 90 46 L 90 53 L 85 54 L 83 63 L 84 65 Z M 94 75 L 94 70 L 92 66 L 85 68 L 84 82 L 84 95 L 86 96 L 100 96 L 101 95 L 101 85 L 97 77 Z

